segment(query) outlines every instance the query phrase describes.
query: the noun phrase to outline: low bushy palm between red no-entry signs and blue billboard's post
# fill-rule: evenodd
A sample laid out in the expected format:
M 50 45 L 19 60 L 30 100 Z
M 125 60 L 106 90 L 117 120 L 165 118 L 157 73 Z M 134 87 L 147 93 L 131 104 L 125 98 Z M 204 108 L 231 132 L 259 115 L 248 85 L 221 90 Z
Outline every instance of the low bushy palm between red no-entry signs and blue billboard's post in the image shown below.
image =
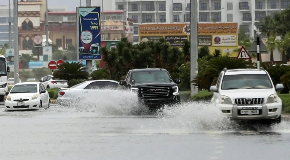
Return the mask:
M 89 73 L 85 70 L 85 66 L 76 62 L 64 62 L 59 68 L 53 72 L 54 78 L 65 79 L 88 79 Z

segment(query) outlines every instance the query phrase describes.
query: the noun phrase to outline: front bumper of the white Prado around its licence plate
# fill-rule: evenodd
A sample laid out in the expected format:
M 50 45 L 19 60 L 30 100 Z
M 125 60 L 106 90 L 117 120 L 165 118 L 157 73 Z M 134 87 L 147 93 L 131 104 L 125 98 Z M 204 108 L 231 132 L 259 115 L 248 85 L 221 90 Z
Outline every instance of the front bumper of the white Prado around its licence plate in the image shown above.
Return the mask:
M 282 112 L 282 102 L 263 104 L 263 105 L 233 105 L 233 104 L 216 104 L 220 110 L 227 110 L 227 113 L 223 113 L 225 116 L 230 117 L 232 120 L 267 120 L 276 119 L 280 117 Z M 245 107 L 257 107 L 260 111 L 259 114 L 242 115 L 240 110 L 245 110 Z M 277 111 L 272 112 L 272 109 Z M 252 109 L 247 109 L 252 110 Z

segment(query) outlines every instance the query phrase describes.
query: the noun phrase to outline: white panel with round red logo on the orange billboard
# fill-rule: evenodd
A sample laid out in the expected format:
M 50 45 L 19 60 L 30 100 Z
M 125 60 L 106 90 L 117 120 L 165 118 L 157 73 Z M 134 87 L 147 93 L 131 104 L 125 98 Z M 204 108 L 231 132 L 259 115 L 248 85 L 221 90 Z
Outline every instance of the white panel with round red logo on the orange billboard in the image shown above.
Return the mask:
M 237 43 L 236 35 L 214 35 L 214 46 L 235 46 Z

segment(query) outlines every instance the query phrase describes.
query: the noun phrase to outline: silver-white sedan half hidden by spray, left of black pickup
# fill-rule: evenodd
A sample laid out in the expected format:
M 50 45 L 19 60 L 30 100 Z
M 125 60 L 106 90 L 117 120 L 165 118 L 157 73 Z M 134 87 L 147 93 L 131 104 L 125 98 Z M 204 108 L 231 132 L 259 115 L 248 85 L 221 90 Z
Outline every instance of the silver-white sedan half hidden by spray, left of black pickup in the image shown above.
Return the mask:
M 101 96 L 109 97 L 111 94 L 119 92 L 118 86 L 119 82 L 112 80 L 85 81 L 71 88 L 60 88 L 57 103 L 61 106 L 79 105 L 84 98 L 98 100 Z

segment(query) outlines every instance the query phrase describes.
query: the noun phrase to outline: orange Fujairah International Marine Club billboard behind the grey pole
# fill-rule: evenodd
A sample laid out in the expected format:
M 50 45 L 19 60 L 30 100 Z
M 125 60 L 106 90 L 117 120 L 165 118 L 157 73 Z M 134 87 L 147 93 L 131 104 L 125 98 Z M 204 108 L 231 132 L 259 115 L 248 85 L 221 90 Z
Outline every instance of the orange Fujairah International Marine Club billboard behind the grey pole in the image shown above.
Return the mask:
M 171 46 L 180 47 L 190 39 L 190 24 L 140 24 L 139 41 L 164 37 Z M 199 46 L 238 46 L 237 23 L 198 24 Z

